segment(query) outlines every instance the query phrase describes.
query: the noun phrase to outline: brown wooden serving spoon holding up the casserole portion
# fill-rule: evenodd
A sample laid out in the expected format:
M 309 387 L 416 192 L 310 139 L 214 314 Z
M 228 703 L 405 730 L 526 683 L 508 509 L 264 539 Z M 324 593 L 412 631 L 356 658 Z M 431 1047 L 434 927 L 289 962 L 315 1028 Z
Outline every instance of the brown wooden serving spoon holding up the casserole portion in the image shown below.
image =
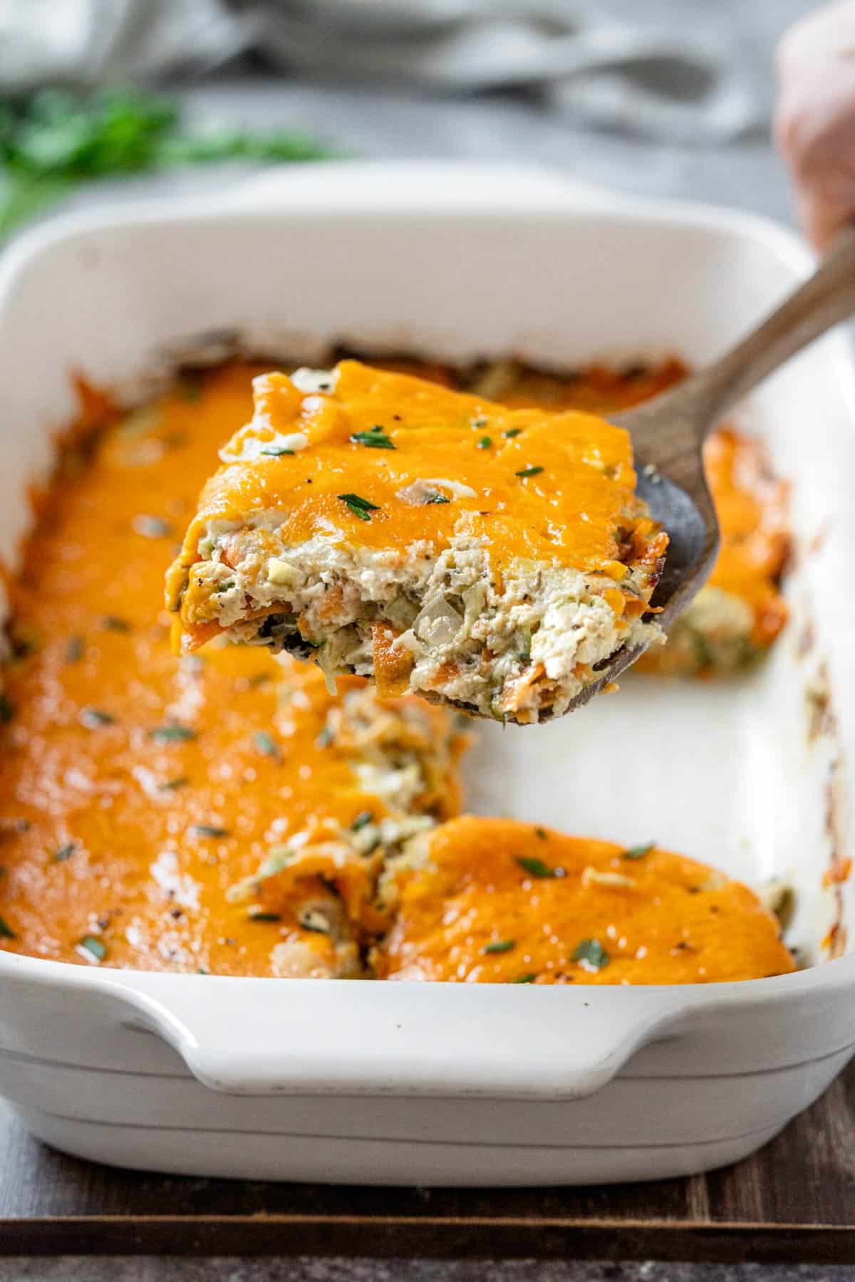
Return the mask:
M 632 436 L 637 492 L 670 540 L 651 601 L 661 608 L 665 629 L 704 586 L 718 554 L 718 518 L 701 454 L 706 435 L 736 401 L 854 312 L 855 228 L 847 228 L 810 279 L 719 360 L 637 409 L 609 415 Z M 572 706 L 599 694 L 643 649 L 617 650 Z

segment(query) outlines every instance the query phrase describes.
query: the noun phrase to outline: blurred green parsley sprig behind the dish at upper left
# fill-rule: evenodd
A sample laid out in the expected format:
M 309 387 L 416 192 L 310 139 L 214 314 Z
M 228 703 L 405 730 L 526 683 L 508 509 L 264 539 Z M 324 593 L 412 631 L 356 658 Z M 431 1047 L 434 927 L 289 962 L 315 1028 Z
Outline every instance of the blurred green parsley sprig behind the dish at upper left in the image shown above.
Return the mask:
M 182 132 L 177 103 L 140 88 L 81 95 L 44 88 L 0 103 L 0 241 L 97 178 L 224 160 L 295 163 L 337 153 L 297 132 Z

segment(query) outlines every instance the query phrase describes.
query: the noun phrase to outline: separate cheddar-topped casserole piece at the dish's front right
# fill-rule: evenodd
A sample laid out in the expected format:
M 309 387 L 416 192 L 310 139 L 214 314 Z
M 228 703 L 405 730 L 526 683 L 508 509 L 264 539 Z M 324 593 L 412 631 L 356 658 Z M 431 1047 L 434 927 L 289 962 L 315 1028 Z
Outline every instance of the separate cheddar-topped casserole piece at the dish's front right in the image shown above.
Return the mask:
M 795 969 L 746 886 L 654 846 L 470 817 L 422 845 L 387 878 L 382 979 L 711 983 Z

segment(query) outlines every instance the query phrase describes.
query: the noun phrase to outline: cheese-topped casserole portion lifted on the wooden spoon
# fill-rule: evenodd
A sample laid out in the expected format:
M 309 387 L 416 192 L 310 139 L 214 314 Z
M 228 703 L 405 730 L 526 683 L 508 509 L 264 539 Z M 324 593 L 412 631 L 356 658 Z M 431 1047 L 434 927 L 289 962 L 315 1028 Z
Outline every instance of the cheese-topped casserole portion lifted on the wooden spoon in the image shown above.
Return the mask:
M 213 636 L 515 722 L 560 715 L 649 622 L 668 536 L 628 435 L 345 360 L 255 379 L 167 600 Z

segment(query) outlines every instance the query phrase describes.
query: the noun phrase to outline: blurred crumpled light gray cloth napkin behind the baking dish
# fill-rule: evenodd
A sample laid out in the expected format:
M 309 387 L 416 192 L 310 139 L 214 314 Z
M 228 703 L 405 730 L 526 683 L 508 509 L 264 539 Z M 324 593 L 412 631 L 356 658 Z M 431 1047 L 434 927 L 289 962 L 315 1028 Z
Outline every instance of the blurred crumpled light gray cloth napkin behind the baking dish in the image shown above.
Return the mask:
M 764 117 L 709 33 L 596 0 L 0 0 L 3 94 L 203 74 L 249 51 L 327 81 L 537 90 L 574 121 L 678 142 L 731 141 Z

